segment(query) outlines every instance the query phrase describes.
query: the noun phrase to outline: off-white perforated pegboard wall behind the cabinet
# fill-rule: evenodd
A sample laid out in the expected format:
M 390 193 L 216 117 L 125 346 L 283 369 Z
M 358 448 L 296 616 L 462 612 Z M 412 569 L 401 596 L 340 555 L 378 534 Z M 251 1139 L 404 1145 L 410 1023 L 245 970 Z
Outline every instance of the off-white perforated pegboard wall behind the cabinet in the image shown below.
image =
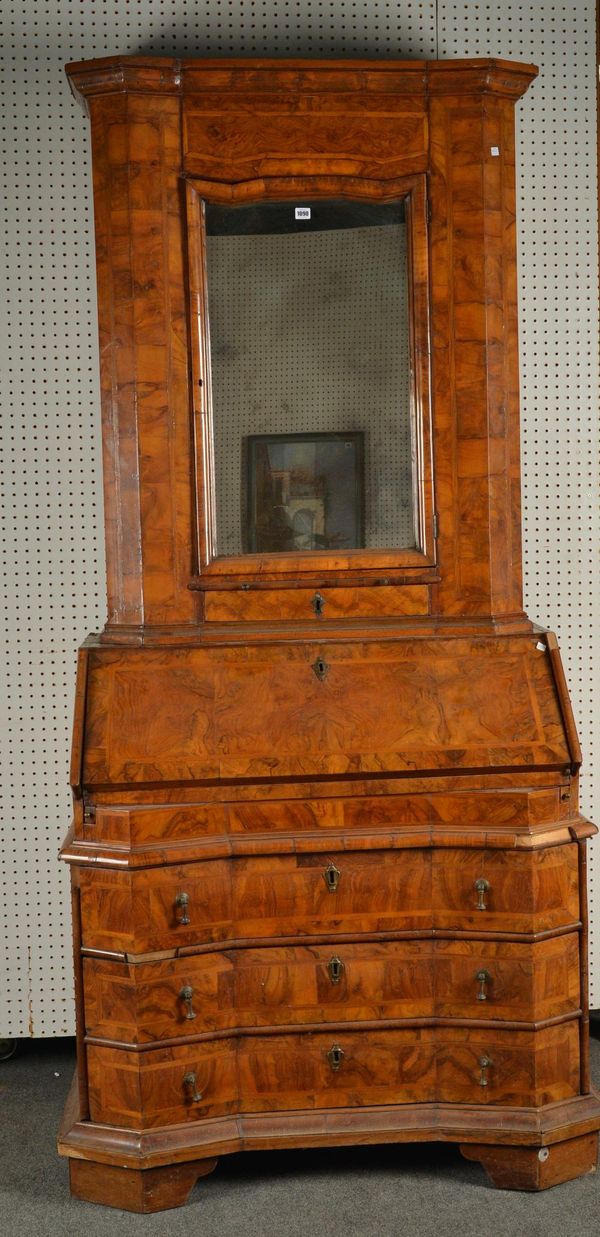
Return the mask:
M 89 130 L 63 64 L 122 52 L 501 56 L 541 67 L 517 108 L 526 604 L 562 643 L 585 753 L 583 808 L 594 816 L 595 5 L 4 0 L 0 28 L 7 278 L 0 1035 L 59 1035 L 74 1023 L 68 881 L 57 851 L 71 814 L 75 649 L 104 621 Z M 600 1004 L 594 846 L 591 909 L 591 1001 Z

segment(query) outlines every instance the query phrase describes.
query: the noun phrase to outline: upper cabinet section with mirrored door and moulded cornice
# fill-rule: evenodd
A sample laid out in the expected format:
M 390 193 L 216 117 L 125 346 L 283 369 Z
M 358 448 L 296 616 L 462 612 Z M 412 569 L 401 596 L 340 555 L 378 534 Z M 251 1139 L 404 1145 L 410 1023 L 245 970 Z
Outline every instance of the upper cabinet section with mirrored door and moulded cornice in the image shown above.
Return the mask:
M 302 586 L 307 621 L 522 625 L 513 105 L 536 69 L 67 72 L 92 119 L 108 633 L 297 618 Z

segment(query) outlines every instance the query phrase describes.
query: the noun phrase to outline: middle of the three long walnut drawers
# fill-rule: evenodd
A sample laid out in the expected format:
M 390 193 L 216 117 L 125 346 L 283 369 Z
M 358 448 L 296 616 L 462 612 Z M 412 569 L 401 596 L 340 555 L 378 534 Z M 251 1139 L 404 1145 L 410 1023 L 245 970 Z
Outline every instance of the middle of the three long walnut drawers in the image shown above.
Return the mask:
M 84 959 L 89 1037 L 147 1044 L 324 1022 L 543 1022 L 579 1007 L 576 933 L 532 944 L 396 940 L 268 946 L 155 962 Z

